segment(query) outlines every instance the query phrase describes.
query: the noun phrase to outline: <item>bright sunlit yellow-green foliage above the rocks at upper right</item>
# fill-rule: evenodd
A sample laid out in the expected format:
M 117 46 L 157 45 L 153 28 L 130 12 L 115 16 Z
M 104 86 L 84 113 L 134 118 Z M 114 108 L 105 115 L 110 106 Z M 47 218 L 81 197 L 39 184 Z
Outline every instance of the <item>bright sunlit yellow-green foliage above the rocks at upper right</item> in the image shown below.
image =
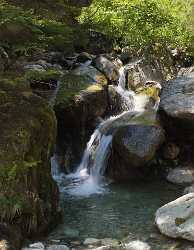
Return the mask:
M 154 43 L 188 47 L 191 11 L 192 0 L 94 0 L 79 20 L 135 49 Z

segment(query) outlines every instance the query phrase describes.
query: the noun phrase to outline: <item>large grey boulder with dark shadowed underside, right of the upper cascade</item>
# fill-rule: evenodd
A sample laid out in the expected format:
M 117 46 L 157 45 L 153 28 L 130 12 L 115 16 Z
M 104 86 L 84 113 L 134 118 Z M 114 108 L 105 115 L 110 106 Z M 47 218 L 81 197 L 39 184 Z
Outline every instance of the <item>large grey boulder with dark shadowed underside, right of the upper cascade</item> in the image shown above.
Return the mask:
M 160 115 L 176 141 L 194 141 L 194 73 L 169 81 L 163 88 Z

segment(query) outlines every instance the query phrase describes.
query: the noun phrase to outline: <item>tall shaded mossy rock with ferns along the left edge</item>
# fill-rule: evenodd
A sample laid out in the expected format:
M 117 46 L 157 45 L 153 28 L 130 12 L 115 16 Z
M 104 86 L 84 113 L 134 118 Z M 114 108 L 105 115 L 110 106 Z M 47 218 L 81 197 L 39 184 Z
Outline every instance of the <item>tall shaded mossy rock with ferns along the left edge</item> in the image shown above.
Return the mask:
M 55 115 L 28 87 L 2 81 L 0 113 L 1 221 L 33 236 L 48 230 L 58 213 L 58 188 L 50 174 Z

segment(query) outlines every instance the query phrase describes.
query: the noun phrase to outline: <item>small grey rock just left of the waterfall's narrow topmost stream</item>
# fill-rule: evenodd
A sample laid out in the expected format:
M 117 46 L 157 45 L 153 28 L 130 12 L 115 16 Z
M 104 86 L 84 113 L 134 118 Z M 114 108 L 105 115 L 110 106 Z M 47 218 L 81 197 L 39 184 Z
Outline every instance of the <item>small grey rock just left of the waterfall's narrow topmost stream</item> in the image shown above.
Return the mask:
M 104 73 L 109 81 L 115 82 L 119 79 L 117 66 L 105 56 L 99 56 L 94 60 L 95 67 Z

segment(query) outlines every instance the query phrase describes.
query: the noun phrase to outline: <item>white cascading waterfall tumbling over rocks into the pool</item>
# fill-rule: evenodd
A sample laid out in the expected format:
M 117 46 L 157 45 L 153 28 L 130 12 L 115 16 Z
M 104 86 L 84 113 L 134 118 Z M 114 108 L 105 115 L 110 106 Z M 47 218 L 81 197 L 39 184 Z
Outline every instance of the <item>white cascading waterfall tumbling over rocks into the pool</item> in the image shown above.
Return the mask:
M 147 102 L 147 96 L 137 97 L 133 91 L 125 89 L 124 67 L 120 69 L 120 79 L 115 90 L 121 96 L 124 111 L 100 123 L 99 127 L 91 135 L 77 171 L 65 176 L 66 180 L 70 180 L 70 184 L 63 187 L 61 191 L 72 196 L 90 196 L 91 194 L 104 193 L 107 190 L 105 188 L 107 183 L 103 175 L 111 152 L 112 135 L 110 129 L 123 125 L 125 120 L 129 123 L 131 117 L 137 116 L 144 111 Z M 52 162 L 52 168 L 58 169 L 56 161 Z M 53 174 L 55 178 L 59 176 L 56 170 L 53 171 Z M 57 177 L 58 182 L 60 178 Z

